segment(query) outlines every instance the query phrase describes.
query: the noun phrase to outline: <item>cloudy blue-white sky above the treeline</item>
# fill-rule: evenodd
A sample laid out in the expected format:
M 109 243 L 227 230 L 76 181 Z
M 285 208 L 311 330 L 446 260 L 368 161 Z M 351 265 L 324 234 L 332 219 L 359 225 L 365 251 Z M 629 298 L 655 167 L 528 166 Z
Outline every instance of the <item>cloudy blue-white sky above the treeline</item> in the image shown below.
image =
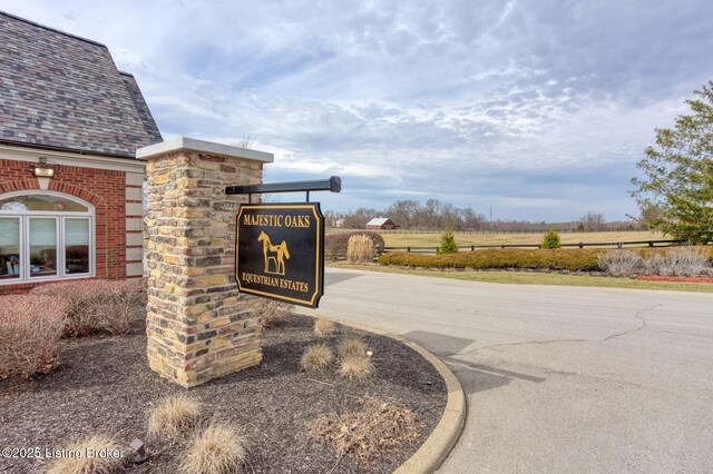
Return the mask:
M 713 2 L 0 0 L 109 47 L 164 138 L 250 136 L 324 209 L 635 214 L 636 161 L 713 79 Z M 316 197 L 316 195 L 315 195 Z M 289 199 L 283 199 L 289 200 Z

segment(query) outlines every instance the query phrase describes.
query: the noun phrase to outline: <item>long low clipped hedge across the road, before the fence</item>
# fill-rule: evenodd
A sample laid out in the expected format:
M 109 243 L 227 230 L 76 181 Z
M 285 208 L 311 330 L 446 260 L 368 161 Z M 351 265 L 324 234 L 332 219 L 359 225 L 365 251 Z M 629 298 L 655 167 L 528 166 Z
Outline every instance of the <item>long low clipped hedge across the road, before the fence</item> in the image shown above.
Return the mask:
M 473 269 L 548 269 L 570 271 L 599 270 L 598 255 L 604 249 L 556 248 L 489 248 L 449 255 L 423 255 L 389 253 L 379 258 L 381 265 L 421 268 L 473 268 Z

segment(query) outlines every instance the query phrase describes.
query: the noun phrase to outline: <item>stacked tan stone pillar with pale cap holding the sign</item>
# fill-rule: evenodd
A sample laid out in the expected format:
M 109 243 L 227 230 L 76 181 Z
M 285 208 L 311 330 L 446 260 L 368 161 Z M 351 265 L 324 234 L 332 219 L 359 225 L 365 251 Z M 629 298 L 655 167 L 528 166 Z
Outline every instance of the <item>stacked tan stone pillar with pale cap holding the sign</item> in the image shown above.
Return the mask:
M 273 156 L 178 138 L 141 148 L 148 180 L 148 362 L 189 387 L 260 364 L 255 300 L 235 284 L 235 216 Z

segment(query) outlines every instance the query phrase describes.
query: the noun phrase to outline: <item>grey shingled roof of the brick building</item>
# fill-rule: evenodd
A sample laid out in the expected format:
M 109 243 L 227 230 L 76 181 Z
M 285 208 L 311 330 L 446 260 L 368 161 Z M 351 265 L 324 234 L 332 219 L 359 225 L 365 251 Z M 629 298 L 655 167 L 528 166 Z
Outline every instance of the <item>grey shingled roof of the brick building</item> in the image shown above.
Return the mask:
M 0 142 L 135 157 L 159 141 L 106 46 L 0 12 Z

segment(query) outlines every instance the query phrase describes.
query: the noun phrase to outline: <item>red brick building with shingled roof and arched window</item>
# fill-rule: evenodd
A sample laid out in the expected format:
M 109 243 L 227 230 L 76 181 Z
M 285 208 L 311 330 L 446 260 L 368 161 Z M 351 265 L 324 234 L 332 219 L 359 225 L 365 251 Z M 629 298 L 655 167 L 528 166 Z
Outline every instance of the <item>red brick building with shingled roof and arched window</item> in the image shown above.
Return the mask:
M 0 295 L 140 277 L 136 149 L 159 141 L 104 45 L 0 12 Z

